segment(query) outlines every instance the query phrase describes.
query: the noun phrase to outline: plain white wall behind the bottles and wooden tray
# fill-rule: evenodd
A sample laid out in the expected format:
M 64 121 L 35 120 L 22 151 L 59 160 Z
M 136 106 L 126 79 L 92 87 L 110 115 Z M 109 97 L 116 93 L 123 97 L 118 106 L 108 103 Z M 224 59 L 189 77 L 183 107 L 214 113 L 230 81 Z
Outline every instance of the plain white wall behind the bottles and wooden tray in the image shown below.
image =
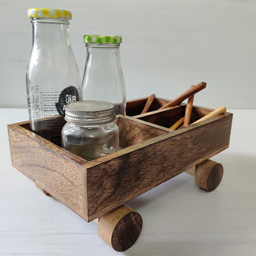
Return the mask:
M 83 34 L 123 36 L 127 98 L 175 98 L 200 81 L 195 104 L 256 109 L 255 0 L 0 0 L 0 108 L 26 108 L 29 7 L 71 10 L 70 36 L 82 75 Z

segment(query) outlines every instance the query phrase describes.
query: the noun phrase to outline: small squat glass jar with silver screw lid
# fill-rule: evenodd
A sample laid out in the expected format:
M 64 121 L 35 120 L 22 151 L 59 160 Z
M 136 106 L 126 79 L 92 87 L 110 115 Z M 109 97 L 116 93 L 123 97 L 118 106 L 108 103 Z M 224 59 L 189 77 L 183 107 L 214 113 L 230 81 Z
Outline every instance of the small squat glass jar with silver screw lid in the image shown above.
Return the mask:
M 114 105 L 86 100 L 66 106 L 67 123 L 61 131 L 62 147 L 86 159 L 108 155 L 119 149 L 119 129 Z

